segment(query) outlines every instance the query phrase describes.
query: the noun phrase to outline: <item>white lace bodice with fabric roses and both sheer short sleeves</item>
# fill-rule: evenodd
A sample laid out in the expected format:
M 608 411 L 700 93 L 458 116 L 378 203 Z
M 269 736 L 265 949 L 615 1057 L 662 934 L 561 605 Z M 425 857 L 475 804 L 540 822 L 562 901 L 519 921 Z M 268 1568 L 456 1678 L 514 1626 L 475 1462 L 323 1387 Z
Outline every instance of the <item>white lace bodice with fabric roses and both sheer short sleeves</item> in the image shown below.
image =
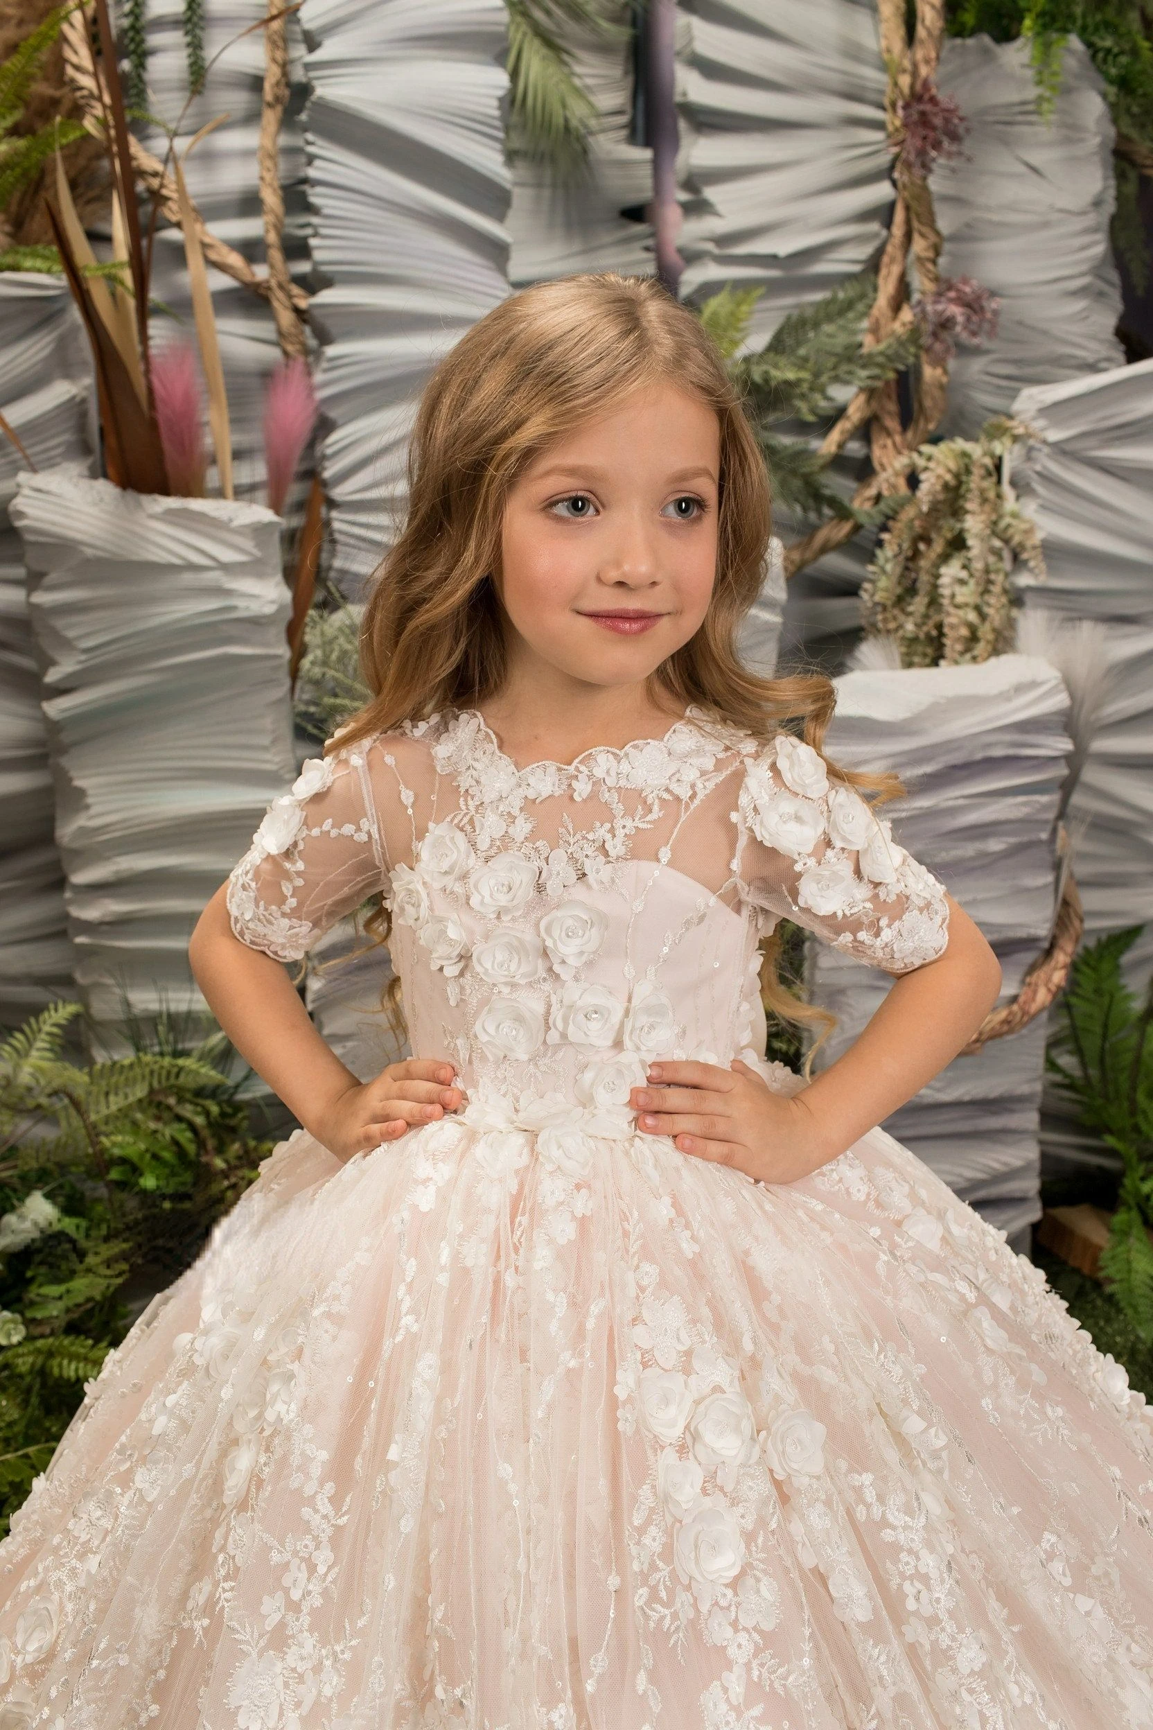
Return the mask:
M 818 753 L 698 709 L 574 763 L 519 768 L 470 709 L 335 749 L 270 806 L 228 910 L 287 962 L 373 891 L 413 1054 L 538 1116 L 576 1093 L 600 1133 L 647 1060 L 764 1052 L 781 915 L 889 972 L 947 941 L 940 882 Z

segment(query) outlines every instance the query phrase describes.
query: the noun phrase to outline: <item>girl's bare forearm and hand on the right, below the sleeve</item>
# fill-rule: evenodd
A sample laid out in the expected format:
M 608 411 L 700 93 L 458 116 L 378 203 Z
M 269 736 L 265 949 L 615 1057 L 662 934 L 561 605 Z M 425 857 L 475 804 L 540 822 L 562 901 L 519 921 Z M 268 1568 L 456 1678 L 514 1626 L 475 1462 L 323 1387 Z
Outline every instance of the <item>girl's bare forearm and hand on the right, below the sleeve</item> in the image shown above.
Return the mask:
M 792 1183 L 837 1159 L 968 1045 L 1001 988 L 1001 964 L 952 896 L 949 943 L 895 979 L 857 1040 L 802 1093 L 785 1099 L 740 1059 L 650 1064 L 659 1086 L 634 1088 L 638 1126 L 681 1152 Z

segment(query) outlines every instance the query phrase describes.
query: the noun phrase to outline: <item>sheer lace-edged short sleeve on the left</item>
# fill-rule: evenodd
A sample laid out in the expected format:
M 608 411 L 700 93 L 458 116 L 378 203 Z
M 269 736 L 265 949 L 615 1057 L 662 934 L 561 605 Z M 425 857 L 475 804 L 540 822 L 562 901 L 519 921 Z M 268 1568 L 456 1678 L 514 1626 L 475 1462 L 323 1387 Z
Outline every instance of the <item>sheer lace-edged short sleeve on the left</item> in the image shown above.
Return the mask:
M 249 948 L 292 962 L 385 879 L 365 753 L 313 758 L 233 868 L 228 917 Z

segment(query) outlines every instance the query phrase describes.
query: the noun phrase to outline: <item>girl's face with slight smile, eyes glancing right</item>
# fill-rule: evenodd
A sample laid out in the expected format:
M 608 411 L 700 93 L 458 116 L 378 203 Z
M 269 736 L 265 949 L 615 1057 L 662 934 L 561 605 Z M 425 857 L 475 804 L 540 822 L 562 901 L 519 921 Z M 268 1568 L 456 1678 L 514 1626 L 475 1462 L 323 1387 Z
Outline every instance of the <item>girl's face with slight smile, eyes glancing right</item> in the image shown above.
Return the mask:
M 721 429 L 672 384 L 557 439 L 505 509 L 510 673 L 634 685 L 698 630 L 717 562 Z

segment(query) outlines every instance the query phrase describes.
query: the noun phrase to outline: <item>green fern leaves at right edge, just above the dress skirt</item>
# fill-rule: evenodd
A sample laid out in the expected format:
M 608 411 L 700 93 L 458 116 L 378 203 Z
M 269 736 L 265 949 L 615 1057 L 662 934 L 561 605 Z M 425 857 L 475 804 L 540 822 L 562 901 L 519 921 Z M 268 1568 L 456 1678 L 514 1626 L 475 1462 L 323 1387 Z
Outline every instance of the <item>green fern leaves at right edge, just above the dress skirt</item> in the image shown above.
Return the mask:
M 1120 1154 L 1101 1273 L 1137 1337 L 1153 1344 L 1153 979 L 1139 1005 L 1122 976 L 1141 931 L 1110 932 L 1080 952 L 1046 1066 L 1077 1102 L 1082 1124 Z

